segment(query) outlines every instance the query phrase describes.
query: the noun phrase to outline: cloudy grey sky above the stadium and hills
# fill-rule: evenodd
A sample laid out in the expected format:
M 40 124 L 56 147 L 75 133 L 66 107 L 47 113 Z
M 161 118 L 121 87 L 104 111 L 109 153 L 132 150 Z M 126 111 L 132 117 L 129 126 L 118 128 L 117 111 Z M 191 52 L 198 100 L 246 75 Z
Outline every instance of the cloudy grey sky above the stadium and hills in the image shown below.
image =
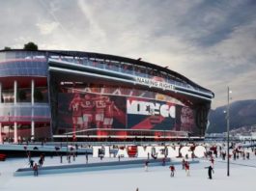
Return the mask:
M 0 0 L 0 49 L 67 49 L 169 67 L 213 91 L 213 108 L 256 98 L 256 0 Z

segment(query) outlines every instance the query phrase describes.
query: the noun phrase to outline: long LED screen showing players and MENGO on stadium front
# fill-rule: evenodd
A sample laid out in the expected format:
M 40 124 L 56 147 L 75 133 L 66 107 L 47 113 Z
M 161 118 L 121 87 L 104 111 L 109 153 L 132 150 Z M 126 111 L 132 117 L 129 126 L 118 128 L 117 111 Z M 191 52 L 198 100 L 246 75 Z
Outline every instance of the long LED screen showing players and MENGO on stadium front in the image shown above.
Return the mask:
M 93 93 L 58 94 L 58 132 L 92 128 L 192 132 L 195 112 L 168 101 Z

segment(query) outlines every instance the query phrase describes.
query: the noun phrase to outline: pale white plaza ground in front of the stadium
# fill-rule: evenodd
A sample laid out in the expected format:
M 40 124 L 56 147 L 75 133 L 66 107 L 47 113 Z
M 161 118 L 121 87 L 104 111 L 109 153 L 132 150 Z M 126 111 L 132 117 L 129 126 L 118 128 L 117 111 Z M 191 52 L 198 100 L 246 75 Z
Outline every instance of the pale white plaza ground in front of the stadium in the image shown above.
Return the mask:
M 64 157 L 64 164 L 67 160 Z M 38 158 L 34 158 L 38 161 Z M 103 159 L 117 160 L 115 159 Z M 90 158 L 89 162 L 99 162 L 99 159 Z M 59 164 L 60 158 L 45 158 L 45 165 Z M 84 163 L 85 156 L 78 156 L 71 163 Z M 45 191 L 45 190 L 111 190 L 111 191 L 164 191 L 164 190 L 232 190 L 254 191 L 256 184 L 256 157 L 250 160 L 233 161 L 231 159 L 230 177 L 226 176 L 226 162 L 217 159 L 214 166 L 213 179 L 208 179 L 208 160 L 202 159 L 199 164 L 191 165 L 190 177 L 185 176 L 181 166 L 176 166 L 175 177 L 170 177 L 168 166 L 150 167 L 149 172 L 141 168 L 125 170 L 109 170 L 87 173 L 43 175 L 39 177 L 14 177 L 16 169 L 28 166 L 27 159 L 8 159 L 0 162 L 0 190 L 5 191 Z M 233 164 L 236 163 L 236 164 Z M 247 166 L 245 166 L 247 165 Z

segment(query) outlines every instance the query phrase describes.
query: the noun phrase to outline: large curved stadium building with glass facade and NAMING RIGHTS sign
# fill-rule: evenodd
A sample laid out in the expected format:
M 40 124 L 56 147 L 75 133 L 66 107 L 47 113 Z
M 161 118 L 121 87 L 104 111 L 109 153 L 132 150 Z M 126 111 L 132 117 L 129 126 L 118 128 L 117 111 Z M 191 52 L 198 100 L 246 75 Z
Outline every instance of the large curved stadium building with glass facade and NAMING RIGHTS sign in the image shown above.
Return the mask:
M 213 92 L 140 59 L 78 51 L 0 51 L 5 140 L 204 138 Z

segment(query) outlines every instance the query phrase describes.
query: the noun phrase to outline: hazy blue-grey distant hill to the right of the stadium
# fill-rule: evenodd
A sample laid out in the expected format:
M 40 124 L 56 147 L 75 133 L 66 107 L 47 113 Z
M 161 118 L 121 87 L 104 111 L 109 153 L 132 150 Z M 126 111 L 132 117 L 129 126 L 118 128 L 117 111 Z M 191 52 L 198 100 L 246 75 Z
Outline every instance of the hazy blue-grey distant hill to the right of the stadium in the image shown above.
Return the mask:
M 222 133 L 227 131 L 227 106 L 217 107 L 210 111 L 208 133 Z M 240 100 L 230 104 L 230 130 L 245 125 L 256 124 L 256 99 Z

